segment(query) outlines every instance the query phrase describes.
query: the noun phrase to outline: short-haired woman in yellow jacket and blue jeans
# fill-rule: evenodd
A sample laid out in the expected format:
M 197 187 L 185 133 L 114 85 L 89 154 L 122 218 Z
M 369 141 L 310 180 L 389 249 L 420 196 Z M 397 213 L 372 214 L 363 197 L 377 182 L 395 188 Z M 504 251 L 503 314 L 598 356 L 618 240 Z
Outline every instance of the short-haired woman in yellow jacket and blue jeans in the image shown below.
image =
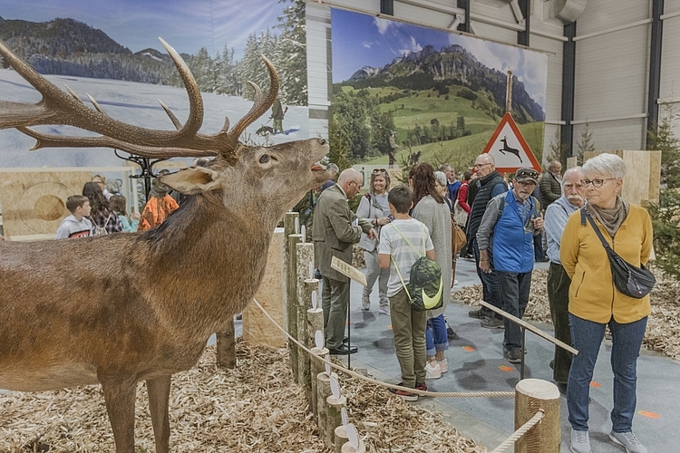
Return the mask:
M 609 246 L 631 265 L 646 265 L 652 250 L 652 220 L 646 210 L 618 196 L 626 174 L 623 159 L 600 154 L 583 165 L 586 211 Z M 571 451 L 590 452 L 588 393 L 597 352 L 608 325 L 612 333 L 614 408 L 609 438 L 627 453 L 646 453 L 632 432 L 636 411 L 636 364 L 651 312 L 649 295 L 635 299 L 614 286 L 609 259 L 593 227 L 573 213 L 562 234 L 559 259 L 568 276 L 569 327 L 578 350 L 569 371 L 567 404 Z

